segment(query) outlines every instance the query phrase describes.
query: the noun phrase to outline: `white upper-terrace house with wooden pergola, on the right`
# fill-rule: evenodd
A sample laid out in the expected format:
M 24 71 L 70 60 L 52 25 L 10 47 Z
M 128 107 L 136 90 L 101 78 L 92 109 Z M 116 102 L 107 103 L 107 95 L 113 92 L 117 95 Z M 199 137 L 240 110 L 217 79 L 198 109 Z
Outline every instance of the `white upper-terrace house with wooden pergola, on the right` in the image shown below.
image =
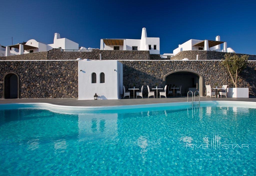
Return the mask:
M 235 51 L 232 48 L 227 48 L 227 42 L 220 41 L 220 36 L 216 36 L 216 40 L 190 39 L 185 43 L 179 45 L 179 47 L 176 48 L 175 50 L 173 50 L 173 54 L 177 54 L 180 51 L 188 51 L 188 50 L 205 50 L 205 51 L 235 53 Z

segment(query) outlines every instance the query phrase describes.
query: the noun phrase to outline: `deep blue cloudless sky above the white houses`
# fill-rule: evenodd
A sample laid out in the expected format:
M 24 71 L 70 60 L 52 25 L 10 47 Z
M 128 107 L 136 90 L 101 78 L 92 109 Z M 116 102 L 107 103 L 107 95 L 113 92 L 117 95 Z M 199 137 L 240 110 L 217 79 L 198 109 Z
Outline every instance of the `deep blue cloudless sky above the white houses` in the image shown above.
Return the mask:
M 79 46 L 100 48 L 101 38 L 160 37 L 160 53 L 189 39 L 227 41 L 237 53 L 256 54 L 254 1 L 2 1 L 0 44 L 36 39 L 53 43 L 54 33 Z

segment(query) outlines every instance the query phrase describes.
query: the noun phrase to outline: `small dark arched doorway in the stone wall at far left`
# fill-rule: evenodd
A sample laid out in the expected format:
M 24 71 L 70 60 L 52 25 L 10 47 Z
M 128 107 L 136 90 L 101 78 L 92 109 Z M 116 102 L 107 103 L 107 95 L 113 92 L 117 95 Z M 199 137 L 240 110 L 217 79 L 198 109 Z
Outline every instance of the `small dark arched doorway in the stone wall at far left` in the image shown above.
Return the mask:
M 4 98 L 19 98 L 19 76 L 15 72 L 4 75 Z

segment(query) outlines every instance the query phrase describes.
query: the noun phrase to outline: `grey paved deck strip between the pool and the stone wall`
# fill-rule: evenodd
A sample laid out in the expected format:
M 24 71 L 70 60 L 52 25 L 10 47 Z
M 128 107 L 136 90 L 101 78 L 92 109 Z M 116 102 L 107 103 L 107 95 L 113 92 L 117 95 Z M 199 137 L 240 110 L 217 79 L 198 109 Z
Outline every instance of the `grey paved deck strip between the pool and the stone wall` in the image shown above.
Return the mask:
M 187 97 L 168 97 L 168 98 L 125 98 L 120 100 L 78 100 L 77 98 L 45 98 L 45 99 L 0 99 L 0 104 L 6 103 L 51 103 L 64 106 L 119 106 L 119 105 L 140 105 L 155 103 L 175 103 L 186 102 Z M 189 97 L 191 101 L 191 97 Z M 198 97 L 196 97 L 198 101 Z M 256 102 L 256 97 L 250 98 L 210 98 L 200 97 L 200 101 L 244 101 Z

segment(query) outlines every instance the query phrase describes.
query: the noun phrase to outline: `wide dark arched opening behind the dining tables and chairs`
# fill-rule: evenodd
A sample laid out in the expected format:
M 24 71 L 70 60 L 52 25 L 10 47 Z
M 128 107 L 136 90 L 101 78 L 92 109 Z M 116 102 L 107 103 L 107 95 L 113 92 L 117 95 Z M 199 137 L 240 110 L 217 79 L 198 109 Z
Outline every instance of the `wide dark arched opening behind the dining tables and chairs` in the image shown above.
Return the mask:
M 198 90 L 200 96 L 204 96 L 204 77 L 200 73 L 190 70 L 177 70 L 170 72 L 164 76 L 167 85 L 173 84 L 177 87 L 182 85 L 182 95 L 187 96 L 187 92 L 191 90 L 193 93 Z

